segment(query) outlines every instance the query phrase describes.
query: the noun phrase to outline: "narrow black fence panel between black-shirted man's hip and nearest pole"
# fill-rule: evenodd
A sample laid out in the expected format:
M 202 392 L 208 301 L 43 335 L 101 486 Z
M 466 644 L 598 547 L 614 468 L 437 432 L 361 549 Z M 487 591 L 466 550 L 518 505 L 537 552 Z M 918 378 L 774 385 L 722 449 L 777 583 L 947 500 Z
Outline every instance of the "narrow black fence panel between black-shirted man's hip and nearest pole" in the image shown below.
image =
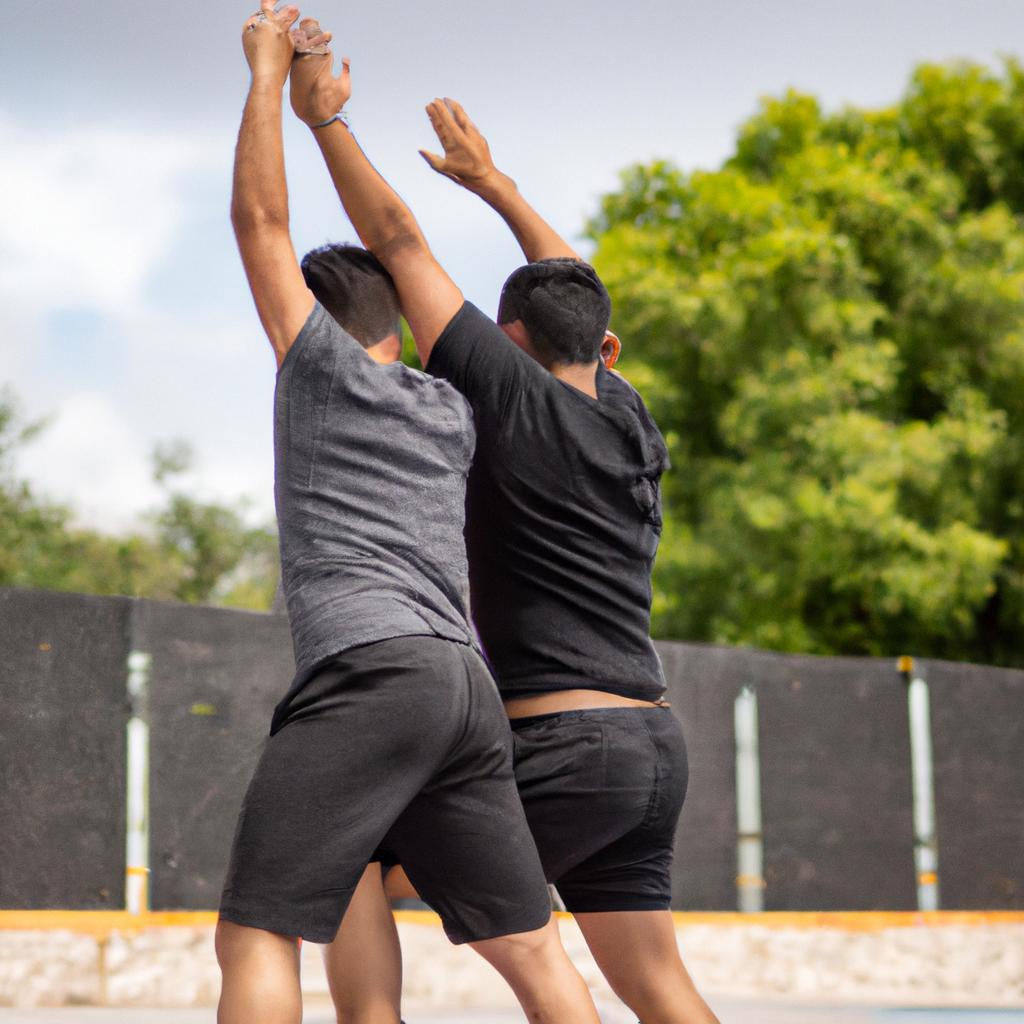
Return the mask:
M 748 651 L 658 643 L 668 698 L 683 724 L 690 780 L 676 830 L 672 905 L 736 908 L 736 773 L 733 701 Z

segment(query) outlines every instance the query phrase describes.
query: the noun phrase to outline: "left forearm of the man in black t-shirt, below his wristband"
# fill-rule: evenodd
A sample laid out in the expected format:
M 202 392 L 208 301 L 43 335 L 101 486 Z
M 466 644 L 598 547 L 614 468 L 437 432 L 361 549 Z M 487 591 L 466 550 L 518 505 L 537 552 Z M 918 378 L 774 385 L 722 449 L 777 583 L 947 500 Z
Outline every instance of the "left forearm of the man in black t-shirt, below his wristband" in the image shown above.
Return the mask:
M 377 172 L 349 130 L 335 122 L 313 130 L 331 179 L 359 241 L 385 266 L 407 246 L 427 248 L 426 240 L 395 190 Z

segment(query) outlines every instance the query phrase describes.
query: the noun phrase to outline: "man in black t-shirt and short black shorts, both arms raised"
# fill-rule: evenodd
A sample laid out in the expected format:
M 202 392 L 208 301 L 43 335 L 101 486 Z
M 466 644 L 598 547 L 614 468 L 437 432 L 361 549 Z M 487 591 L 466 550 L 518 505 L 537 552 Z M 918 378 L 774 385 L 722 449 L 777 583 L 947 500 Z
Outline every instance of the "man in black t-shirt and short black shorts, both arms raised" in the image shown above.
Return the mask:
M 336 114 L 334 83 L 329 59 L 293 70 L 308 124 Z M 457 103 L 428 113 L 445 150 L 428 162 L 490 203 L 530 261 L 505 287 L 501 327 L 464 301 L 408 208 L 365 173 L 347 125 L 316 137 L 427 372 L 473 408 L 472 608 L 512 719 L 527 820 L 549 881 L 644 1024 L 713 1024 L 669 911 L 687 765 L 648 632 L 665 442 L 637 392 L 601 365 L 610 301 L 597 274 L 495 170 Z M 373 987 L 360 945 L 343 925 L 333 989 Z

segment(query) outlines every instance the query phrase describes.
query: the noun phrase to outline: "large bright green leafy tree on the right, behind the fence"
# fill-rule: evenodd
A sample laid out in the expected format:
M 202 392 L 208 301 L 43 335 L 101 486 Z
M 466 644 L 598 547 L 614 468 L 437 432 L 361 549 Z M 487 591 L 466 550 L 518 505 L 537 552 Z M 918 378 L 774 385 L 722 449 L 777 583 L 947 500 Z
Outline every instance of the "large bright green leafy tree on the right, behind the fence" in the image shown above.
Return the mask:
M 674 462 L 658 635 L 1024 664 L 1022 214 L 1015 61 L 624 174 L 591 232 Z

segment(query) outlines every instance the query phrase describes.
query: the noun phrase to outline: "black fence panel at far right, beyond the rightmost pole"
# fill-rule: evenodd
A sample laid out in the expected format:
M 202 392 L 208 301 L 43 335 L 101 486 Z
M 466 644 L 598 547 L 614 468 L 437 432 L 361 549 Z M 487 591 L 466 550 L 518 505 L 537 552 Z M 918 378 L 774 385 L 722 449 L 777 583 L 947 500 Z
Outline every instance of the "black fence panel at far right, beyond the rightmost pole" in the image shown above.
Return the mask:
M 1024 672 L 923 666 L 942 906 L 1024 910 Z

